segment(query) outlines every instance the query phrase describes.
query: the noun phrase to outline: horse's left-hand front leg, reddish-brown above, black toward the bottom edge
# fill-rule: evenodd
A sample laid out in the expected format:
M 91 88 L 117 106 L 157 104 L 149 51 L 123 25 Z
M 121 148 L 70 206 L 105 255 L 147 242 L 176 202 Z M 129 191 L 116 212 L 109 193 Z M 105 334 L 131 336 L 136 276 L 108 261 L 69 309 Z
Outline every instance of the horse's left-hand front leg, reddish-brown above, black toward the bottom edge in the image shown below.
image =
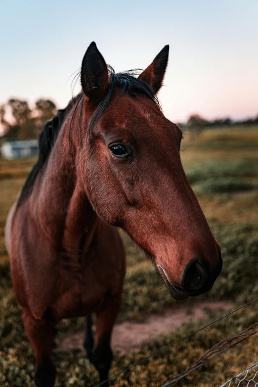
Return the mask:
M 23 309 L 25 331 L 33 345 L 37 369 L 34 380 L 37 387 L 52 387 L 55 367 L 52 361 L 54 325 L 45 320 L 36 320 L 27 309 Z

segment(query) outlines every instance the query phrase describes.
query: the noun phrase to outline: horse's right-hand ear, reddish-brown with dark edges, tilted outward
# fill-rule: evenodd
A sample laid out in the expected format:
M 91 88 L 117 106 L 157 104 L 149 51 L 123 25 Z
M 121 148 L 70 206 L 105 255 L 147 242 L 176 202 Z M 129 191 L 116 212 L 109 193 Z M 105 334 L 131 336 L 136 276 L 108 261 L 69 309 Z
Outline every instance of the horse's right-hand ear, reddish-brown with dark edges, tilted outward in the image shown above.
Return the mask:
M 155 94 L 158 93 L 162 87 L 162 81 L 169 60 L 169 49 L 169 45 L 162 48 L 153 62 L 138 77 L 150 85 Z

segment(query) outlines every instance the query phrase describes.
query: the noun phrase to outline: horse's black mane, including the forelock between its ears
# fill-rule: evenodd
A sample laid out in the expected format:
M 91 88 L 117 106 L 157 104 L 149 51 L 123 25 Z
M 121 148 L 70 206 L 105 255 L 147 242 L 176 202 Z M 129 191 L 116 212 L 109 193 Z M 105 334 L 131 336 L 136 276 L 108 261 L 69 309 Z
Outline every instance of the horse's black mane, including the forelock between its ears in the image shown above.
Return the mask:
M 130 97 L 135 97 L 137 94 L 141 94 L 151 99 L 159 108 L 161 108 L 154 90 L 146 82 L 144 82 L 139 78 L 136 78 L 137 71 L 139 70 L 129 70 L 126 72 L 115 74 L 115 71 L 111 66 L 108 66 L 108 69 L 109 69 L 109 89 L 106 96 L 99 102 L 96 110 L 93 113 L 93 116 L 88 126 L 88 133 L 90 133 L 90 130 L 92 129 L 94 124 L 103 114 L 103 112 L 107 109 L 116 88 L 121 89 L 121 94 L 119 98 L 122 97 L 123 93 L 125 92 Z M 51 150 L 53 148 L 53 145 L 56 142 L 56 139 L 58 137 L 59 131 L 63 125 L 65 118 L 70 113 L 70 111 L 75 107 L 71 118 L 71 123 L 70 123 L 70 130 L 71 130 L 73 116 L 79 106 L 79 102 L 82 99 L 83 99 L 83 94 L 80 93 L 77 97 L 73 98 L 69 102 L 69 104 L 65 109 L 58 110 L 57 114 L 52 118 L 52 120 L 46 122 L 46 124 L 44 125 L 43 131 L 39 136 L 38 161 L 32 168 L 31 172 L 29 173 L 24 183 L 24 186 L 18 198 L 18 203 L 16 208 L 18 208 L 24 202 L 24 200 L 31 194 L 35 180 L 40 170 L 45 165 L 48 159 L 48 156 L 51 153 Z M 114 101 L 113 104 L 115 104 L 118 101 L 118 99 Z M 82 108 L 83 108 L 83 104 L 81 104 L 81 112 L 80 112 L 80 128 L 79 128 L 80 130 L 81 130 Z

